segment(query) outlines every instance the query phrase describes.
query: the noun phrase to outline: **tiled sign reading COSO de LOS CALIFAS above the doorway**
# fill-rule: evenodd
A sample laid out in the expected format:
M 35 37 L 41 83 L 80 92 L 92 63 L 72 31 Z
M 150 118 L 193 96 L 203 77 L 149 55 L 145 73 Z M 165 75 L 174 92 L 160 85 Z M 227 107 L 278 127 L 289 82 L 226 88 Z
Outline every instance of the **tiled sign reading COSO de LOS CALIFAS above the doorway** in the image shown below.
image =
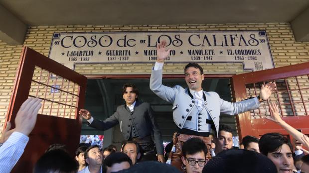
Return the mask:
M 265 30 L 54 33 L 48 57 L 73 70 L 77 63 L 154 63 L 160 40 L 171 49 L 166 63 L 274 68 Z

